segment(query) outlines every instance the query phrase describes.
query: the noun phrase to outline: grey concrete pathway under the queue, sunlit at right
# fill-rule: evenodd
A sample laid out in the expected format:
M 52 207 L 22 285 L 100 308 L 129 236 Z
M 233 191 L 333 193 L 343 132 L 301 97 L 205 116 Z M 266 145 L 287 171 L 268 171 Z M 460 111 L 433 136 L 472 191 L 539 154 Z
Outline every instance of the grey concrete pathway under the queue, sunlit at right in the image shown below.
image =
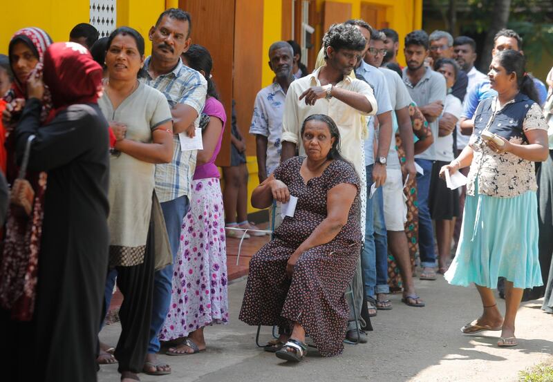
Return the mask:
M 238 321 L 245 279 L 229 285 L 231 324 L 207 327 L 206 352 L 165 356 L 173 368 L 169 376 L 140 374 L 150 382 L 245 381 L 517 381 L 518 371 L 551 356 L 553 316 L 539 309 L 541 300 L 523 304 L 517 318 L 519 345 L 498 348 L 498 332 L 465 336 L 459 328 L 480 314 L 476 289 L 452 287 L 440 278 L 418 281 L 418 293 L 427 307 L 407 307 L 392 295 L 393 310 L 373 318 L 369 343 L 346 345 L 344 354 L 324 359 L 316 351 L 306 361 L 291 365 L 256 348 L 255 327 Z M 505 303 L 498 300 L 504 311 Z M 115 345 L 120 326 L 107 325 L 100 338 Z M 270 328 L 263 328 L 270 338 Z M 100 382 L 119 381 L 116 365 L 103 365 Z

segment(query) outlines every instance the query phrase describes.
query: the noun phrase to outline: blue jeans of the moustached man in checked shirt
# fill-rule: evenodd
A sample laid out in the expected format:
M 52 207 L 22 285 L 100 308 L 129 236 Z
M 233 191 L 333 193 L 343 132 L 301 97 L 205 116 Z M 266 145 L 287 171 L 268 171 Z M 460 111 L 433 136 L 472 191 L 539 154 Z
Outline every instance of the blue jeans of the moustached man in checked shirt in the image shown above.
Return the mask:
M 153 281 L 153 305 L 151 312 L 150 325 L 150 345 L 148 353 L 157 353 L 160 351 L 160 340 L 158 334 L 165 323 L 165 318 L 171 305 L 171 284 L 173 282 L 173 265 L 176 262 L 178 245 L 180 242 L 180 230 L 182 229 L 182 220 L 188 213 L 190 204 L 187 196 L 181 196 L 169 202 L 162 202 L 161 209 L 165 218 L 167 235 L 169 236 L 169 245 L 173 252 L 173 264 L 156 271 Z

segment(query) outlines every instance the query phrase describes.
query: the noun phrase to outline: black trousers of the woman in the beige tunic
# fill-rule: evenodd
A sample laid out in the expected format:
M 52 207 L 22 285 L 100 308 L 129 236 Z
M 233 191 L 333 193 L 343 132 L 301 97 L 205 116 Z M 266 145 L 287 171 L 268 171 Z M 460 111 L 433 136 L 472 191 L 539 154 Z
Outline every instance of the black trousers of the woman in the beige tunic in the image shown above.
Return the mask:
M 115 348 L 119 372 L 142 372 L 148 353 L 155 261 L 153 237 L 151 222 L 144 262 L 133 267 L 117 267 L 117 285 L 123 295 L 119 309 L 121 335 Z

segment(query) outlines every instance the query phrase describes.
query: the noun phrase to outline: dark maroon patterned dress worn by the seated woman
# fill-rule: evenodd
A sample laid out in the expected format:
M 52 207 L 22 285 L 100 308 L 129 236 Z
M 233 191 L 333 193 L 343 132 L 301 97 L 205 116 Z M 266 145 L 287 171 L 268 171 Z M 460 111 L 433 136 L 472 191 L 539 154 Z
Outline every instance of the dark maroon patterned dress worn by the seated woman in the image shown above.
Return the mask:
M 350 164 L 335 160 L 307 184 L 299 173 L 305 157 L 293 157 L 274 171 L 291 195 L 298 198 L 294 217 L 285 217 L 250 261 L 250 276 L 240 312 L 249 325 L 290 327 L 296 321 L 312 338 L 322 356 L 344 350 L 349 309 L 344 292 L 359 260 L 362 236 L 359 227 L 359 191 L 350 208 L 348 222 L 330 242 L 300 256 L 292 278 L 286 263 L 292 253 L 326 218 L 327 193 L 341 183 L 355 184 L 359 178 Z

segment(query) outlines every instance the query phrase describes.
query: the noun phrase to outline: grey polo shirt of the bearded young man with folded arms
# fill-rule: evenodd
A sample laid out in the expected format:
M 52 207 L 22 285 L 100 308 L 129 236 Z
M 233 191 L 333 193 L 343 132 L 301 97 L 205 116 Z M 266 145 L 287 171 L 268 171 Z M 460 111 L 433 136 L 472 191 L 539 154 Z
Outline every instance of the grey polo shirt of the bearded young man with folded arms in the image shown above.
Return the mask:
M 407 70 L 408 68 L 404 68 L 403 70 L 403 82 L 407 86 L 409 95 L 411 95 L 415 104 L 421 107 L 440 100 L 445 105 L 447 88 L 443 75 L 427 68 L 426 73 L 424 73 L 420 81 L 413 86 L 407 76 Z M 436 138 L 438 137 L 438 118 L 434 122 L 429 122 L 429 127 L 434 136 L 434 142 L 436 142 Z M 415 158 L 436 160 L 435 143 L 431 144 L 423 153 L 415 155 Z

